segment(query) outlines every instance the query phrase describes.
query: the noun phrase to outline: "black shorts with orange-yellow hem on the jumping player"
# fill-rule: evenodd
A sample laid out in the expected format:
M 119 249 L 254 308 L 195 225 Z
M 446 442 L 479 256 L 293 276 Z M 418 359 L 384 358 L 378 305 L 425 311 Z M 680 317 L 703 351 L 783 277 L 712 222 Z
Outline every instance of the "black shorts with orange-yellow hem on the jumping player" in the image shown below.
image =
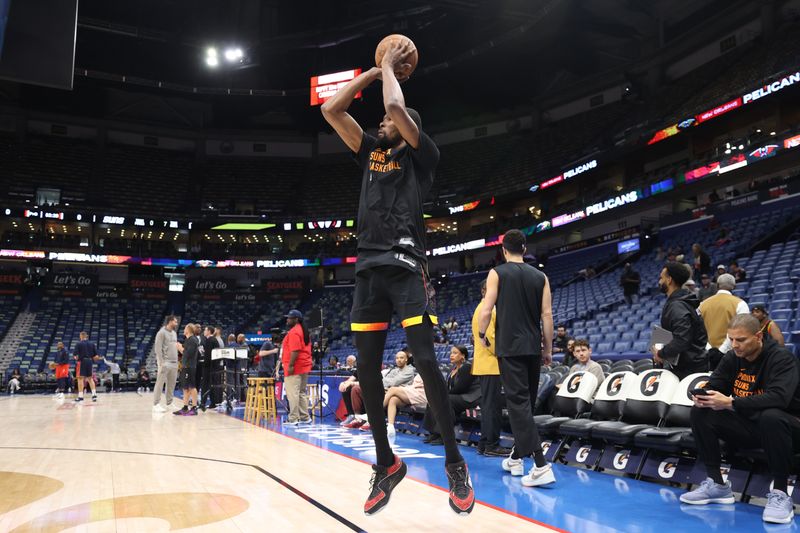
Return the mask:
M 356 274 L 350 327 L 353 331 L 388 330 L 393 310 L 404 328 L 422 324 L 425 315 L 438 324 L 434 307 L 425 274 L 399 266 L 366 268 Z

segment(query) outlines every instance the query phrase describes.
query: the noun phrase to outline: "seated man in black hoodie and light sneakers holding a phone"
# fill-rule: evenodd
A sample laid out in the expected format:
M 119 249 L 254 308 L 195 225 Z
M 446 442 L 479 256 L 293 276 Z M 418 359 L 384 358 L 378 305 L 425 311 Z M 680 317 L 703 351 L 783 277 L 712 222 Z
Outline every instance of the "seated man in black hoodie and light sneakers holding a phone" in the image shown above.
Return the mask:
M 752 315 L 736 315 L 727 336 L 733 349 L 709 378 L 707 392 L 694 396 L 691 413 L 698 460 L 708 479 L 680 500 L 693 505 L 733 503 L 731 485 L 720 472 L 719 440 L 740 448 L 763 448 L 773 489 L 762 518 L 787 524 L 794 520 L 788 478 L 792 457 L 800 451 L 800 366 L 791 352 L 764 337 Z

